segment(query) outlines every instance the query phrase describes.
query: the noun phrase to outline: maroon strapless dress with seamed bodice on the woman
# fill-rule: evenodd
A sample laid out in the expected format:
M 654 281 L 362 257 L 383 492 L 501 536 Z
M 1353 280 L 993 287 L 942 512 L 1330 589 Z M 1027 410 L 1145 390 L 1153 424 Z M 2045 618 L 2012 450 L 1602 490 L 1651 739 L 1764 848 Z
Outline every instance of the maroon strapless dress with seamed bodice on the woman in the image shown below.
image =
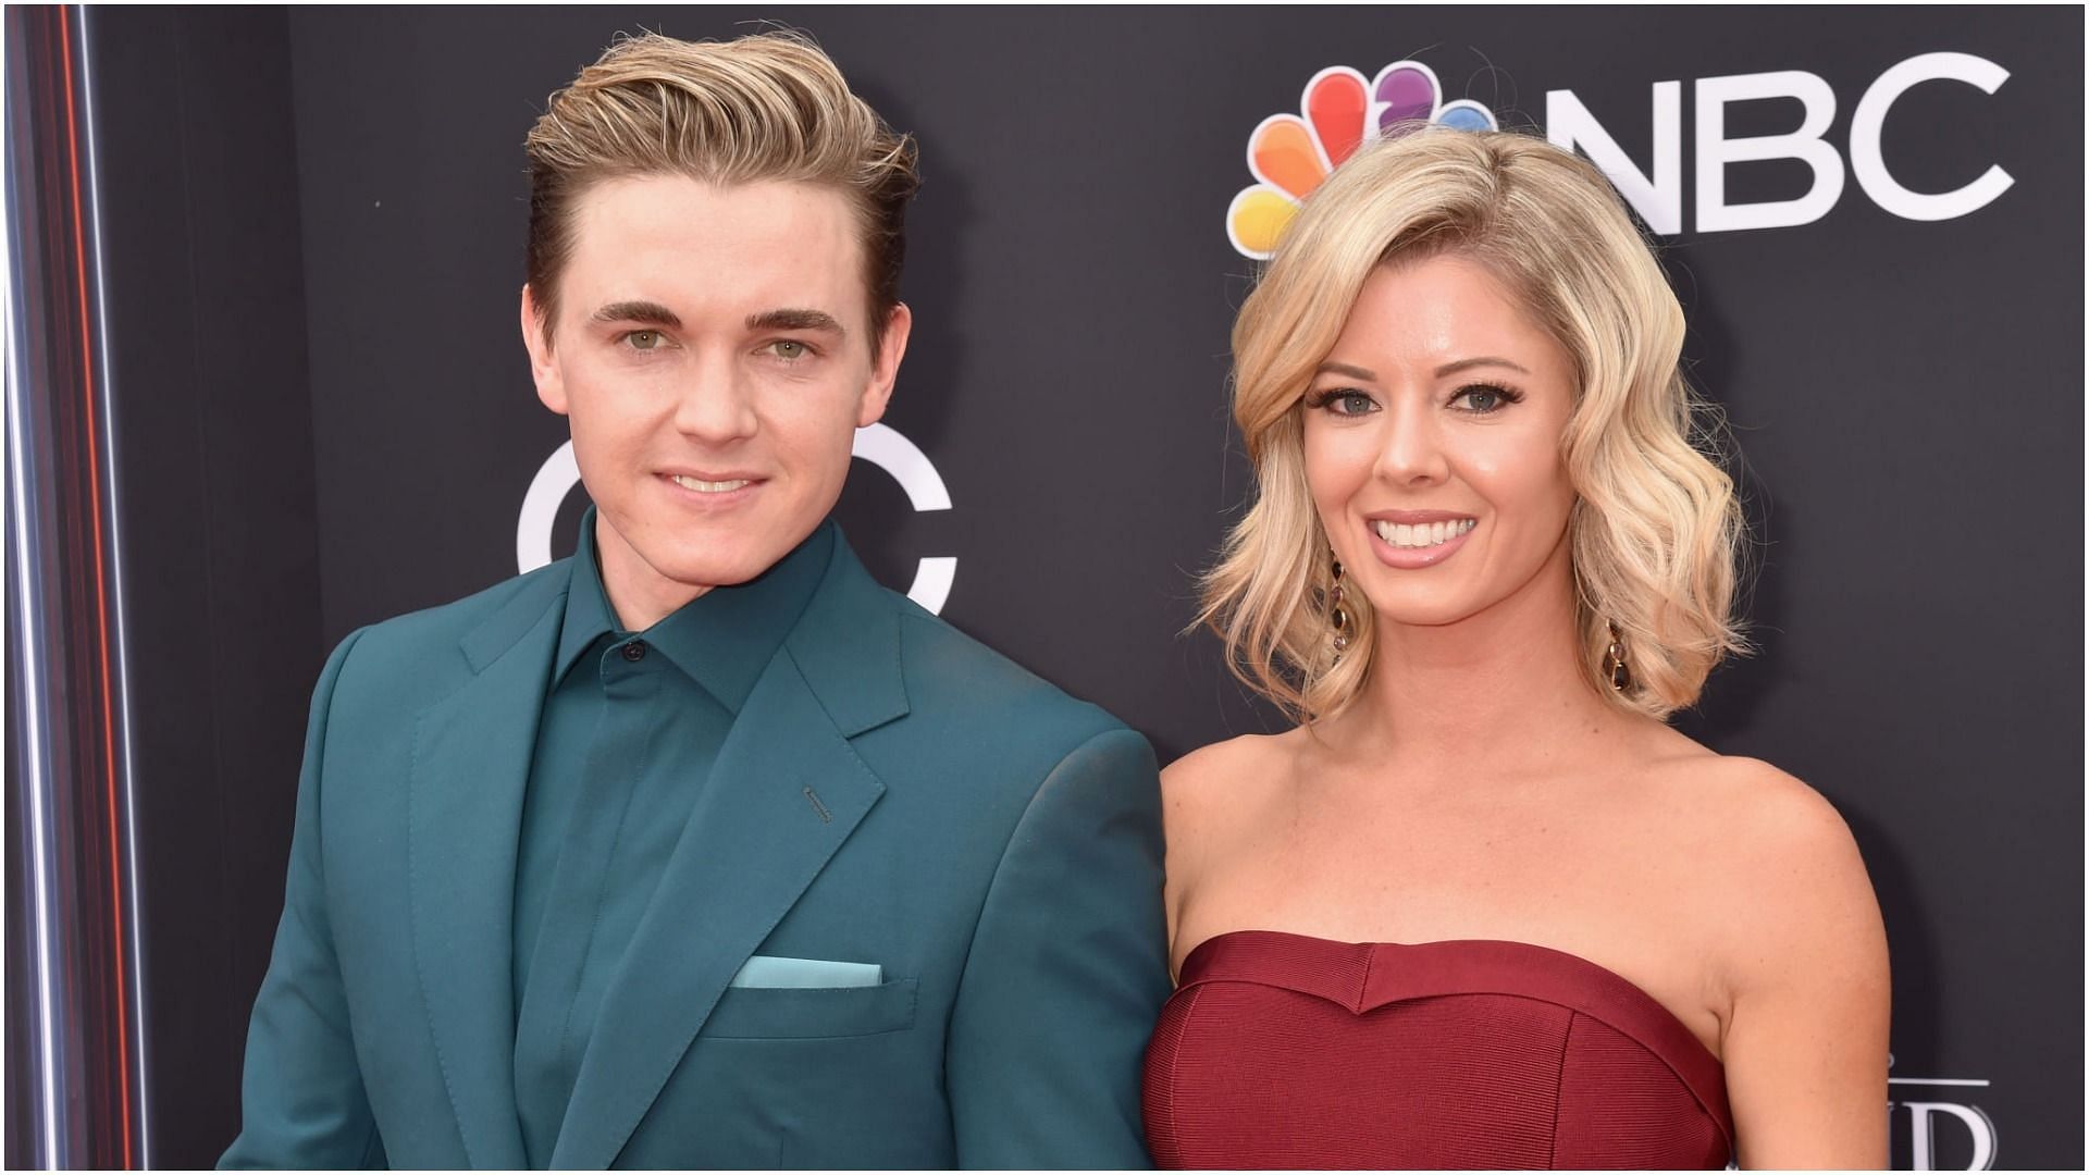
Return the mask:
M 1529 943 L 1233 930 L 1147 1045 L 1159 1167 L 1726 1167 L 1726 1073 L 1617 974 Z

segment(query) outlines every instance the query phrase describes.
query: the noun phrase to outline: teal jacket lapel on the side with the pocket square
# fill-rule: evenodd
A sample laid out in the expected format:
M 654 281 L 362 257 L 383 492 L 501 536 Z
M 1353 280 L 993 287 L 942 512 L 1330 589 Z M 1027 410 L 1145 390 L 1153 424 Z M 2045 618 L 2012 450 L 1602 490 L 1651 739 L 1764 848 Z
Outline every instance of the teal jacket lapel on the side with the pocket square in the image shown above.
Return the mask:
M 848 738 L 905 713 L 898 613 L 836 535 L 604 991 L 551 1167 L 616 1162 L 733 972 L 884 794 Z

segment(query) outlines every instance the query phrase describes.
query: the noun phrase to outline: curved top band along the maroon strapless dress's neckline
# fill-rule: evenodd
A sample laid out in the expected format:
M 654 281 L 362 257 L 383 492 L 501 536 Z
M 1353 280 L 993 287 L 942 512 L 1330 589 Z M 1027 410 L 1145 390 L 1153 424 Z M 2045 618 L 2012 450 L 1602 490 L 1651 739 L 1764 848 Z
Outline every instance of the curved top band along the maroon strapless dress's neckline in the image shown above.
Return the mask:
M 1381 964 L 1381 955 L 1398 955 Z M 1734 1137 L 1726 1068 L 1675 1012 L 1615 970 L 1571 951 L 1508 939 L 1345 943 L 1291 930 L 1222 930 L 1182 958 L 1176 993 L 1203 983 L 1262 983 L 1356 1014 L 1437 995 L 1521 995 L 1594 1016 L 1661 1058 Z

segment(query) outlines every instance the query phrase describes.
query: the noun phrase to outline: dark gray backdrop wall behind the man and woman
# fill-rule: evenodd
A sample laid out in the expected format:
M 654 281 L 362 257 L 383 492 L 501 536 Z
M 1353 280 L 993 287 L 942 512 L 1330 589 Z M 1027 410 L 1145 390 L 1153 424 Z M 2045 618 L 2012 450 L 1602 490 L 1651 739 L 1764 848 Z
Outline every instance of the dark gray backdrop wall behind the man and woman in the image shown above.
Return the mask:
M 157 1165 L 236 1129 L 326 650 L 512 575 L 564 441 L 516 335 L 524 130 L 616 31 L 752 19 L 811 29 L 921 140 L 886 422 L 953 508 L 915 514 L 859 462 L 850 537 L 896 588 L 957 556 L 942 615 L 1161 761 L 1272 728 L 1176 633 L 1247 487 L 1224 376 L 1253 266 L 1224 213 L 1249 132 L 1314 71 L 1418 59 L 1525 128 L 1573 90 L 1642 167 L 1650 86 L 1680 79 L 1690 209 L 1694 79 L 1820 75 L 1847 159 L 1895 63 L 2008 69 L 1991 96 L 1918 86 L 1884 125 L 1909 188 L 2010 171 L 1980 211 L 1901 220 L 1851 178 L 1813 224 L 1667 238 L 1761 542 L 1763 652 L 1680 725 L 1857 834 L 1893 943 L 1895 1162 L 1918 1127 L 1939 1167 L 1980 1135 L 2003 1167 L 2083 1162 L 2081 10 L 478 8 L 96 17 Z M 1728 136 L 1797 123 L 1748 102 Z M 1809 180 L 1740 163 L 1728 197 Z

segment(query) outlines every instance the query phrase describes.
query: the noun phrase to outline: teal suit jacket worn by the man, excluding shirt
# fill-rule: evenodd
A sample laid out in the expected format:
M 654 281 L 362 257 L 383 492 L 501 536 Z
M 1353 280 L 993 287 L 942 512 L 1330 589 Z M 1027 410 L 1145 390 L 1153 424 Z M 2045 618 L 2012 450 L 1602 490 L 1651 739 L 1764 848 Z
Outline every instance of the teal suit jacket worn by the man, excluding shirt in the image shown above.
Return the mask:
M 514 868 L 570 571 L 328 659 L 226 1167 L 524 1162 Z M 752 955 L 882 983 L 729 987 Z M 551 1167 L 1143 1167 L 1168 989 L 1147 742 L 838 539 L 604 995 Z

